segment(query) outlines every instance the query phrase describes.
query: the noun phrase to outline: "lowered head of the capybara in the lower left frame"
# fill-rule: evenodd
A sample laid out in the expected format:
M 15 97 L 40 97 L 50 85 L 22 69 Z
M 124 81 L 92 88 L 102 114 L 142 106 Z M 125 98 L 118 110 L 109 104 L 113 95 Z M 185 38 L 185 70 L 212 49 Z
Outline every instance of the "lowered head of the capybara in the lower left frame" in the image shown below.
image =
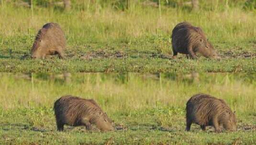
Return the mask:
M 95 124 L 103 132 L 113 130 L 113 121 L 106 113 L 100 112 L 100 116 L 96 119 Z

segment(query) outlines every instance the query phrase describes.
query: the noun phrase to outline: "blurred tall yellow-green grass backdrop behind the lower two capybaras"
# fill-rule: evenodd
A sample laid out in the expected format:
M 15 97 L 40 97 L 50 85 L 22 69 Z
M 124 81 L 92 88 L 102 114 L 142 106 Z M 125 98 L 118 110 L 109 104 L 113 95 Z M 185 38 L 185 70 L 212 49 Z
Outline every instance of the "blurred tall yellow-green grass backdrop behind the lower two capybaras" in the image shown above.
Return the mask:
M 0 73 L 0 108 L 49 107 L 71 94 L 109 112 L 185 108 L 196 93 L 224 99 L 238 113 L 256 111 L 255 73 Z

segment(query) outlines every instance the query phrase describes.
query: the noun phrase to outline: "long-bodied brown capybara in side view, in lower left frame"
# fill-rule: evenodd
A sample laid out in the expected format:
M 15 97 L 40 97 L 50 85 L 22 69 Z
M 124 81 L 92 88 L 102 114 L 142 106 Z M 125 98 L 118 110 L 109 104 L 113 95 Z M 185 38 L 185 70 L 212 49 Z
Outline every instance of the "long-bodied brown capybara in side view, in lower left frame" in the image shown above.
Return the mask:
M 64 124 L 84 125 L 87 130 L 91 130 L 91 124 L 95 124 L 101 131 L 113 129 L 111 119 L 94 100 L 62 96 L 54 103 L 54 111 L 58 131 L 63 131 Z

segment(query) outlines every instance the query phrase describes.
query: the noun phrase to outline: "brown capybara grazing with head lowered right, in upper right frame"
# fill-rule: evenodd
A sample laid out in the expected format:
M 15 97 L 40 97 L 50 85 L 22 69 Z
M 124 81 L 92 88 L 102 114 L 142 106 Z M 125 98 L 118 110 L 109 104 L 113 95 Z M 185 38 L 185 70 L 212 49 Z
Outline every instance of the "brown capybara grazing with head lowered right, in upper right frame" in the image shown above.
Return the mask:
M 188 22 L 178 23 L 172 31 L 173 58 L 178 53 L 189 54 L 193 59 L 200 53 L 207 58 L 218 58 L 216 51 L 207 40 L 204 32 L 199 27 L 194 27 Z

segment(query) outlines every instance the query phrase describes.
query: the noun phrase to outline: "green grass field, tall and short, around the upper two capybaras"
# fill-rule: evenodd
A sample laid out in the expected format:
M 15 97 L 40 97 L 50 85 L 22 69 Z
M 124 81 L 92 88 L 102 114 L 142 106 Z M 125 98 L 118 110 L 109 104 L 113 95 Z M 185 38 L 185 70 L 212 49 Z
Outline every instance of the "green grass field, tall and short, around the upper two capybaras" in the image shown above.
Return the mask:
M 256 13 L 244 10 L 243 5 L 209 0 L 201 1 L 199 11 L 163 5 L 160 13 L 158 8 L 138 2 L 131 2 L 129 10 L 117 10 L 111 5 L 81 1 L 66 12 L 60 6 L 34 5 L 31 9 L 2 0 L 0 71 L 256 71 Z M 170 35 L 181 21 L 200 26 L 221 59 L 188 60 L 180 54 L 179 59 L 172 60 Z M 59 23 L 66 34 L 65 60 L 29 57 L 37 31 L 47 22 Z

